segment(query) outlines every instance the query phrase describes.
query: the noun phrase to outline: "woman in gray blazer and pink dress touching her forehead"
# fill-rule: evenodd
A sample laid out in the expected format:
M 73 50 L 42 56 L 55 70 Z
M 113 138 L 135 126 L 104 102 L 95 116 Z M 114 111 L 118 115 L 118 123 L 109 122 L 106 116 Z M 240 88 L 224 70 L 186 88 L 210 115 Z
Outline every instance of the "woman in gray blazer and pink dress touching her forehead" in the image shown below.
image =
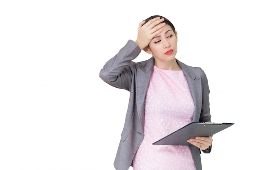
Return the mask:
M 141 50 L 153 56 L 132 62 Z M 211 137 L 189 139 L 192 146 L 152 145 L 192 121 L 211 121 L 204 71 L 180 62 L 176 53 L 173 24 L 154 15 L 139 23 L 137 40 L 128 40 L 101 69 L 103 81 L 130 91 L 117 170 L 201 170 L 200 150 L 211 152 Z

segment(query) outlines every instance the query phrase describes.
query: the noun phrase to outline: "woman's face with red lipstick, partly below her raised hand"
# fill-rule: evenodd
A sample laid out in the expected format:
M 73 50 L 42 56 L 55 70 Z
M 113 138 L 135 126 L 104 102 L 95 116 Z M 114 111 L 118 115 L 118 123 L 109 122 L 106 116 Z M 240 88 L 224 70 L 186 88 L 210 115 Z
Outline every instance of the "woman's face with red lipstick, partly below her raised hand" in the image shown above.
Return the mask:
M 177 32 L 176 35 L 171 26 L 165 25 L 163 31 L 155 36 L 149 43 L 147 53 L 153 54 L 156 62 L 170 62 L 175 60 L 177 53 Z

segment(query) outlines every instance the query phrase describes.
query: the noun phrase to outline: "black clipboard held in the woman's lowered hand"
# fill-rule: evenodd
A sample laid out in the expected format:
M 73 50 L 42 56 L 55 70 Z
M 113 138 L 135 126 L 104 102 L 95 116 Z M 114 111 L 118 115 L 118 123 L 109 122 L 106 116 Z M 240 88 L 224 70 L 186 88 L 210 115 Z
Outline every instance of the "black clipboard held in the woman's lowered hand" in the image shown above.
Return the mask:
M 199 136 L 209 137 L 232 125 L 233 123 L 191 122 L 154 142 L 153 145 L 192 145 L 187 142 L 188 139 Z

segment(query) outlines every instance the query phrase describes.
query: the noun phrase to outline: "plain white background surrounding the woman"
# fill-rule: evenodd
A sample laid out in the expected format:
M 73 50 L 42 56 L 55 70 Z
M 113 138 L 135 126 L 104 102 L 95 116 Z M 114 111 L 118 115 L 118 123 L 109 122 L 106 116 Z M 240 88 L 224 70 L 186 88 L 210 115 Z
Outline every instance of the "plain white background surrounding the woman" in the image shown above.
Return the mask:
M 213 137 L 204 170 L 255 170 L 255 8 L 251 0 L 8 0 L 0 3 L 0 170 L 114 170 L 128 91 L 99 78 L 162 15 L 176 58 L 209 80 Z M 141 52 L 138 61 L 150 55 Z M 130 168 L 129 170 L 132 170 Z

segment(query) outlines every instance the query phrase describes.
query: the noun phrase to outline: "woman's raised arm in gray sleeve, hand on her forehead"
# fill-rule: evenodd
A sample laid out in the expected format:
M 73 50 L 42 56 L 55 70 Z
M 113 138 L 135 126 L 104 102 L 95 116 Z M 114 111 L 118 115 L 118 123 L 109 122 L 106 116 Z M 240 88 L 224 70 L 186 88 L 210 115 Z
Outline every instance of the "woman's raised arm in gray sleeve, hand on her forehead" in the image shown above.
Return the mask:
M 163 31 L 165 23 L 163 19 L 153 18 L 152 20 L 139 23 L 136 43 L 129 40 L 128 43 L 111 58 L 101 69 L 100 77 L 103 81 L 117 88 L 130 90 L 133 77 L 133 59 L 135 59 L 142 49 L 146 48 L 152 38 Z M 161 24 L 159 24 L 161 23 Z

